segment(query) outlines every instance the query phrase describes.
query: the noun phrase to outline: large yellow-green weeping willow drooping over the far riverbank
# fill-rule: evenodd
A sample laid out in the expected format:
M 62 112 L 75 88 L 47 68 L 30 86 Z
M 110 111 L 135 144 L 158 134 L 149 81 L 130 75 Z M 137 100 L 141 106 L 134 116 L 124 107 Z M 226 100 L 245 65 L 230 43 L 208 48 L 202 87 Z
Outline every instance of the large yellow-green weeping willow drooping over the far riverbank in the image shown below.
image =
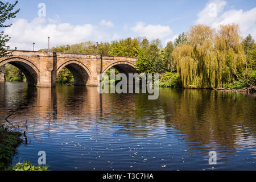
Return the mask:
M 173 56 L 185 88 L 226 88 L 246 63 L 237 24 L 220 26 L 218 31 L 197 24 Z

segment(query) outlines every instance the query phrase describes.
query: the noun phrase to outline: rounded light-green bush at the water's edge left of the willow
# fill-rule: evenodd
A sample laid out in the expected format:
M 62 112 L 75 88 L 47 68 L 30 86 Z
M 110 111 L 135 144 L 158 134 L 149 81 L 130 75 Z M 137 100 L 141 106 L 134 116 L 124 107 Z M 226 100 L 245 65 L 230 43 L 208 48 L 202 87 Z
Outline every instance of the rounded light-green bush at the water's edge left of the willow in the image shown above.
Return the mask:
M 181 88 L 182 82 L 180 75 L 178 73 L 171 72 L 164 73 L 164 75 L 160 78 L 159 86 Z

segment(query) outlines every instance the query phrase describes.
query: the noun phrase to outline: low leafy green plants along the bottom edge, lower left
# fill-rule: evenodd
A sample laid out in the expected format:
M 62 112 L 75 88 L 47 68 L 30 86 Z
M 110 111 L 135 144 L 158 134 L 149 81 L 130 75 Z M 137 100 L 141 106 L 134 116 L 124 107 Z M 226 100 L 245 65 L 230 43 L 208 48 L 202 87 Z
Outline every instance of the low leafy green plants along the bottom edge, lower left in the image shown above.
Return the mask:
M 17 163 L 9 171 L 48 171 L 48 166 L 34 166 L 30 162 Z

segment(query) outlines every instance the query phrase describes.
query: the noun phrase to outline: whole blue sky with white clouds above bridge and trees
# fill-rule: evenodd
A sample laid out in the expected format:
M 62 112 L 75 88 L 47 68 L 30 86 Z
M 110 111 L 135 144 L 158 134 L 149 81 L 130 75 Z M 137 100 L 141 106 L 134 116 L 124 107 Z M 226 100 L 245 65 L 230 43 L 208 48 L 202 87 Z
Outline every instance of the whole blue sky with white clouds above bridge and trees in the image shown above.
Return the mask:
M 2 1 L 7 2 L 7 1 Z M 10 3 L 15 1 L 11 0 Z M 19 0 L 5 34 L 13 49 L 35 50 L 85 41 L 110 42 L 127 37 L 159 38 L 166 46 L 195 24 L 218 28 L 240 24 L 241 36 L 256 39 L 255 0 Z

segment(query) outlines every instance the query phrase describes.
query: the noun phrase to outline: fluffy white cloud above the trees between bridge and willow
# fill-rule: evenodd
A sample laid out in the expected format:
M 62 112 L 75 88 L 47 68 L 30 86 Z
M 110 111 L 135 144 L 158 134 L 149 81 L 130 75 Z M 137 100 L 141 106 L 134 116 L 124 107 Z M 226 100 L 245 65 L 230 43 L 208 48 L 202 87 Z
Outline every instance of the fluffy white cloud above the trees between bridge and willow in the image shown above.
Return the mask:
M 138 34 L 138 36 L 146 36 L 148 39 L 163 39 L 172 34 L 172 30 L 169 26 L 162 26 L 148 24 L 146 26 L 143 22 L 136 23 L 136 26 L 131 27 L 131 31 Z

